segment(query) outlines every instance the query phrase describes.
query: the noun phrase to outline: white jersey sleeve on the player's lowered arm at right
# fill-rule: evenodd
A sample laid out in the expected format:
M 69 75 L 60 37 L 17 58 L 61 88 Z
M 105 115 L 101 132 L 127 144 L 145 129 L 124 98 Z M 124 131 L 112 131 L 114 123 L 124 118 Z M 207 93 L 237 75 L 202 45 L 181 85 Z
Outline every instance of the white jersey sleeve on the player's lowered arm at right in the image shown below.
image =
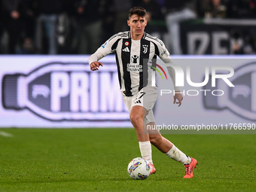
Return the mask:
M 157 39 L 158 44 L 158 52 L 160 59 L 163 60 L 165 63 L 173 63 L 171 57 L 169 56 L 169 51 L 166 49 L 166 46 L 163 44 L 163 41 L 160 39 Z M 166 66 L 166 69 L 168 70 L 169 76 L 172 79 L 172 84 L 175 91 L 179 91 L 179 87 L 175 86 L 175 70 L 171 66 Z

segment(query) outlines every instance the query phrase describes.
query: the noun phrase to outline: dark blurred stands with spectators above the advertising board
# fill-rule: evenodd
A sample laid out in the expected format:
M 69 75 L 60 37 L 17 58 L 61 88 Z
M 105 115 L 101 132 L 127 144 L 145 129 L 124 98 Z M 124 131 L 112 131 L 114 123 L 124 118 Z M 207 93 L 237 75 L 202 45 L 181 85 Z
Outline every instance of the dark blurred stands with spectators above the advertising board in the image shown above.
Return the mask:
M 147 9 L 146 31 L 163 39 L 171 54 L 256 50 L 255 0 L 0 2 L 2 54 L 91 54 L 114 33 L 129 29 L 127 13 L 133 6 Z

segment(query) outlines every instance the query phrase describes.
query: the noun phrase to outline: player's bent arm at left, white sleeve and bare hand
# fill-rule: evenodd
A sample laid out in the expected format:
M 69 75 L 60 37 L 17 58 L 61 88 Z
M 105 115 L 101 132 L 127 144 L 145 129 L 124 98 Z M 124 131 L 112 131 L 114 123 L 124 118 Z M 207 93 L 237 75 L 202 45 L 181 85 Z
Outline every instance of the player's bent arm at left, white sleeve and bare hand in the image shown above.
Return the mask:
M 118 34 L 113 35 L 89 57 L 88 62 L 90 64 L 90 70 L 96 71 L 99 70 L 99 66 L 103 66 L 102 62 L 99 62 L 99 60 L 104 56 L 107 56 L 109 53 L 114 52 L 115 48 L 113 45 L 118 39 Z

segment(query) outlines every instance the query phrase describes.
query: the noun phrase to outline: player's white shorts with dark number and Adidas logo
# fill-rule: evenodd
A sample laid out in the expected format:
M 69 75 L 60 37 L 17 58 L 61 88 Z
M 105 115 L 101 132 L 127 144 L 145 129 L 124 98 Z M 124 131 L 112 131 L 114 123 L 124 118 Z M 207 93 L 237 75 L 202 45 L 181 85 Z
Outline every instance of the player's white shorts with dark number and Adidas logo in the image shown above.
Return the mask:
M 123 96 L 123 102 L 129 112 L 135 105 L 139 105 L 147 109 L 148 114 L 145 116 L 143 121 L 145 124 L 148 124 L 154 122 L 153 108 L 157 101 L 157 96 L 157 87 L 144 87 L 134 96 Z

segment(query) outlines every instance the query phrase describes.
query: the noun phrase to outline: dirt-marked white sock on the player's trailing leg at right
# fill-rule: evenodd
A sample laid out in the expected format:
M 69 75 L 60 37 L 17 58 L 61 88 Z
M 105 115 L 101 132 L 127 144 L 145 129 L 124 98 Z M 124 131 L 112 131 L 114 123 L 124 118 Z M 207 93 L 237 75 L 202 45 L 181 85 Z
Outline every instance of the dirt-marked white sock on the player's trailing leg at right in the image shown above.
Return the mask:
M 172 146 L 172 148 L 166 153 L 166 155 L 173 160 L 183 163 L 184 165 L 191 163 L 191 158 L 185 155 L 178 148 L 176 148 L 175 145 Z

